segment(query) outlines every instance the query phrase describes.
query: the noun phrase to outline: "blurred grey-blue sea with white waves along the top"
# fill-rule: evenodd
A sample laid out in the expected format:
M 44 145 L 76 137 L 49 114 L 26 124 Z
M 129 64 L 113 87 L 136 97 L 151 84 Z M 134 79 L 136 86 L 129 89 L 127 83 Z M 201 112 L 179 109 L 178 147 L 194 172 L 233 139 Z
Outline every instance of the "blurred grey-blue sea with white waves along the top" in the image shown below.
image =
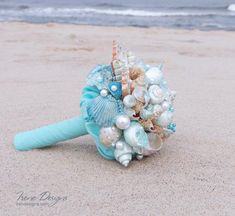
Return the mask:
M 0 0 L 0 21 L 235 30 L 235 0 Z

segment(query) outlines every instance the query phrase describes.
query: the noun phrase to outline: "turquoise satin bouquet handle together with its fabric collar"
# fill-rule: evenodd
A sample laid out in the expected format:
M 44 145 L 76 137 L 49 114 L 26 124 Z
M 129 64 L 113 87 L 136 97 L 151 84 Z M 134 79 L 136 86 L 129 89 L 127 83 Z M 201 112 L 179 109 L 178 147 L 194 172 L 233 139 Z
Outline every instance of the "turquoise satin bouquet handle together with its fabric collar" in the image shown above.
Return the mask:
M 96 87 L 85 87 L 83 89 L 80 102 L 82 116 L 37 128 L 31 131 L 18 133 L 14 139 L 15 148 L 21 151 L 43 148 L 89 133 L 94 138 L 99 153 L 106 159 L 115 159 L 113 147 L 106 147 L 100 143 L 100 127 L 90 121 L 86 112 L 86 105 L 89 100 L 97 97 L 98 95 L 99 90 Z

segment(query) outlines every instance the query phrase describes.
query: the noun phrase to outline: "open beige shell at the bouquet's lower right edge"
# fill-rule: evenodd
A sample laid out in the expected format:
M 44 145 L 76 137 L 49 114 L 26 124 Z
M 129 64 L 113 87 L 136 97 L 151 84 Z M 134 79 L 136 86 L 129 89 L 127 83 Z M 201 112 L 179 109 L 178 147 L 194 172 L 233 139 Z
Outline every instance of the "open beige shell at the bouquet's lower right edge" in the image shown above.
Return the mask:
M 162 148 L 163 141 L 160 136 L 154 133 L 147 133 L 149 139 L 149 148 L 144 149 L 143 155 L 149 156 Z

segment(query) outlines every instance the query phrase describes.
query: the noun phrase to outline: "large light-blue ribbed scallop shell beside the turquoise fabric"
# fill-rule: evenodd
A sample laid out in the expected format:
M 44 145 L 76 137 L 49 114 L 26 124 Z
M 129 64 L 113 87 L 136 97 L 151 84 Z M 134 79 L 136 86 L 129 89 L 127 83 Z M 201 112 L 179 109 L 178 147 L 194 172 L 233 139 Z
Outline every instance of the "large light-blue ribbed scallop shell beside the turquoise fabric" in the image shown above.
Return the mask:
M 89 119 L 102 127 L 111 127 L 116 116 L 122 112 L 122 102 L 111 95 L 98 96 L 87 104 Z

